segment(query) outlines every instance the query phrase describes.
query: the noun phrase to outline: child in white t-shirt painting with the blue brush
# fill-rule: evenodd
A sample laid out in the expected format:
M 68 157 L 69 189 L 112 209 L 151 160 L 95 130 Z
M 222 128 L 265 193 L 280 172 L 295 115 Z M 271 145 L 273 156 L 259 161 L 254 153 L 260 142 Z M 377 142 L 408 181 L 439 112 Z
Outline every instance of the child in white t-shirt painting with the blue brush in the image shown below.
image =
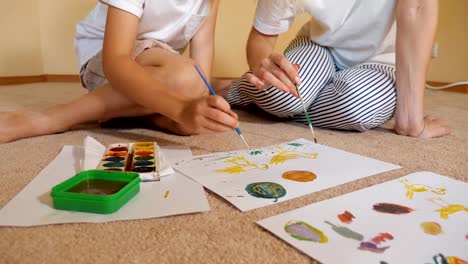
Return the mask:
M 211 8 L 210 0 L 101 0 L 75 38 L 90 92 L 44 112 L 1 113 L 0 143 L 132 116 L 176 134 L 234 129 L 237 115 L 194 68 L 210 79 L 217 9 L 217 0 Z M 181 55 L 187 45 L 190 58 Z

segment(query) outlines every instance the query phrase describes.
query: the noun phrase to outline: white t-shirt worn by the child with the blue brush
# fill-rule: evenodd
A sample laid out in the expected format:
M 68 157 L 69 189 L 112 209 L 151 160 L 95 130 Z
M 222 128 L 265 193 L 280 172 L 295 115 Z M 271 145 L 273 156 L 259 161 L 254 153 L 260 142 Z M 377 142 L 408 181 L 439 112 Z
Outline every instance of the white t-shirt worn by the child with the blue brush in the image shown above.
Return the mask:
M 76 26 L 80 66 L 102 49 L 107 5 L 140 19 L 137 40 L 155 39 L 178 51 L 187 46 L 210 12 L 210 0 L 100 0 Z

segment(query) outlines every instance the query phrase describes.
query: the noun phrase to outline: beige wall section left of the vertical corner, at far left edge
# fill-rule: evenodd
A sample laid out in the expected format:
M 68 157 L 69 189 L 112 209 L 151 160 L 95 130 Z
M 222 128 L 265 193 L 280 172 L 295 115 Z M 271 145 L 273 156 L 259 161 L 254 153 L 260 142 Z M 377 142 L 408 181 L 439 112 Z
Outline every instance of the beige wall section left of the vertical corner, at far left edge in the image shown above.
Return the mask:
M 43 72 L 38 0 L 2 1 L 0 76 Z

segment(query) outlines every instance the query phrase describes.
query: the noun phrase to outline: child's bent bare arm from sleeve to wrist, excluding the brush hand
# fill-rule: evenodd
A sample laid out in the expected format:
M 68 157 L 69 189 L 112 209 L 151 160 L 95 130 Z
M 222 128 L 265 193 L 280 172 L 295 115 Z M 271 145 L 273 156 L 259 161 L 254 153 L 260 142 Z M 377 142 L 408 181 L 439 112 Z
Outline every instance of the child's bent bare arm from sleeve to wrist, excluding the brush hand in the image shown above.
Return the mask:
M 113 89 L 135 103 L 179 120 L 186 102 L 177 93 L 153 79 L 131 57 L 138 23 L 138 17 L 109 6 L 103 47 L 106 78 Z

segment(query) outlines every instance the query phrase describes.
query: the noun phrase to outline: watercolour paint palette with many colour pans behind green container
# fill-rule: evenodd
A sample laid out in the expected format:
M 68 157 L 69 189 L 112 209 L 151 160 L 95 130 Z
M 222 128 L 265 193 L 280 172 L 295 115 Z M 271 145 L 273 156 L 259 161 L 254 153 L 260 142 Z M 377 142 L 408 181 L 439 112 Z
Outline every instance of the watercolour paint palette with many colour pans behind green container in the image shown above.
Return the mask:
M 136 172 L 143 181 L 159 180 L 159 146 L 156 142 L 118 143 L 107 147 L 98 170 Z

